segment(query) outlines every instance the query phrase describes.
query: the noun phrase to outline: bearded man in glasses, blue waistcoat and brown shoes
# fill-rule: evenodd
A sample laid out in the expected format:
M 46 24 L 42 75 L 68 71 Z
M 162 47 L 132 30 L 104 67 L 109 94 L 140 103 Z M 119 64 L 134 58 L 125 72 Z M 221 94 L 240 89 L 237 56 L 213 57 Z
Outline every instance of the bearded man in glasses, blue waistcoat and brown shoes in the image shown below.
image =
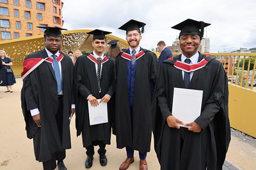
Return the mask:
M 145 25 L 129 20 L 119 28 L 126 31 L 129 44 L 127 50 L 118 54 L 115 62 L 116 145 L 117 148 L 125 147 L 127 153 L 121 170 L 134 162 L 134 150 L 138 150 L 140 155 L 140 169 L 148 168 L 146 157 L 152 133 L 151 101 L 159 63 L 155 53 L 140 46 Z

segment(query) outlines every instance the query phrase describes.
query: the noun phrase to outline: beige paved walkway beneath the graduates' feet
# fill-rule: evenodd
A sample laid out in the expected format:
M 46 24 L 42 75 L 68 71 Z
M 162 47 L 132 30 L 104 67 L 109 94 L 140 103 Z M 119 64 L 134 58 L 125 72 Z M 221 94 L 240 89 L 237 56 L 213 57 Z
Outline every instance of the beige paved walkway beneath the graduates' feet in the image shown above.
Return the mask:
M 42 164 L 36 162 L 33 153 L 33 141 L 26 138 L 24 118 L 20 108 L 21 78 L 17 78 L 17 83 L 13 85 L 13 93 L 4 93 L 5 87 L 0 87 L 0 169 L 21 169 L 35 170 L 42 169 Z M 86 159 L 85 149 L 82 145 L 81 136 L 76 137 L 75 118 L 70 124 L 72 149 L 67 150 L 65 165 L 68 169 L 84 170 Z M 97 149 L 97 148 L 96 148 Z M 118 169 L 125 159 L 125 150 L 116 149 L 115 136 L 111 137 L 111 145 L 106 147 L 108 165 L 101 167 L 99 156 L 95 154 L 93 169 Z M 148 153 L 148 169 L 160 169 L 154 152 L 153 143 L 151 152 Z M 138 152 L 135 152 L 135 161 L 129 169 L 139 169 L 140 159 Z M 223 169 L 256 169 L 256 148 L 243 140 L 232 136 L 230 148 L 227 153 L 227 162 Z

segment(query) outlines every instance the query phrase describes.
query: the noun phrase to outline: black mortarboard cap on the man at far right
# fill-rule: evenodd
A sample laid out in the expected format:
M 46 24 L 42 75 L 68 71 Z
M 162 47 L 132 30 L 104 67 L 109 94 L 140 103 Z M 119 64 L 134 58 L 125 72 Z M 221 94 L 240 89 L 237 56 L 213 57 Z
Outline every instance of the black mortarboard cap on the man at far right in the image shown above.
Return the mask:
M 200 39 L 204 36 L 204 27 L 207 27 L 211 24 L 205 23 L 203 21 L 196 21 L 187 19 L 183 22 L 180 22 L 180 24 L 177 24 L 173 26 L 173 29 L 180 30 L 180 36 L 186 36 L 186 35 L 198 35 L 200 36 Z

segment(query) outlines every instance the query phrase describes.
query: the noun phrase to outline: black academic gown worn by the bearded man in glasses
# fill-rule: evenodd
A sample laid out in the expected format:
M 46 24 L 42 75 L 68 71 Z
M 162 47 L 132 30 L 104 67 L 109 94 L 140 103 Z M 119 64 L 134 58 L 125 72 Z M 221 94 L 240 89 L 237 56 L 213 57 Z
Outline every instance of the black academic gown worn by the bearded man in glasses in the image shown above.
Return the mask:
M 119 53 L 115 62 L 116 79 L 116 147 L 130 146 L 141 153 L 150 151 L 152 134 L 152 83 L 156 81 L 159 62 L 154 53 L 143 50 L 145 54 L 137 59 L 136 77 L 133 93 L 132 120 L 129 107 L 127 85 L 127 59 Z M 127 50 L 125 50 L 127 53 Z M 129 62 L 129 61 L 128 61 Z

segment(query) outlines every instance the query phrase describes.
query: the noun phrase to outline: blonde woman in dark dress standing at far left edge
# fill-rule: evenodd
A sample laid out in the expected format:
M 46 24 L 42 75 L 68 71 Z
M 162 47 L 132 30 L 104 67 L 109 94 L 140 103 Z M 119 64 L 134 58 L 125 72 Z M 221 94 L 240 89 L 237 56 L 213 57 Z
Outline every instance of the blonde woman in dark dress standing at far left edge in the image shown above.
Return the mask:
M 6 52 L 4 52 L 4 50 L 0 50 L 0 57 L 1 57 L 1 62 L 3 64 L 3 67 L 1 69 L 1 74 L 2 74 L 2 83 L 0 84 L 0 86 L 5 86 L 6 87 L 6 91 L 5 92 L 13 92 L 12 90 L 12 85 L 14 83 L 16 83 L 15 81 L 15 77 L 14 77 L 14 74 L 13 74 L 13 71 L 12 73 L 7 73 L 7 69 L 11 69 L 11 66 L 12 66 L 12 60 L 10 59 L 10 57 L 8 57 L 6 55 Z

